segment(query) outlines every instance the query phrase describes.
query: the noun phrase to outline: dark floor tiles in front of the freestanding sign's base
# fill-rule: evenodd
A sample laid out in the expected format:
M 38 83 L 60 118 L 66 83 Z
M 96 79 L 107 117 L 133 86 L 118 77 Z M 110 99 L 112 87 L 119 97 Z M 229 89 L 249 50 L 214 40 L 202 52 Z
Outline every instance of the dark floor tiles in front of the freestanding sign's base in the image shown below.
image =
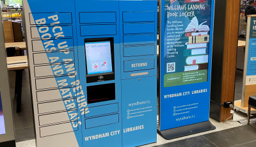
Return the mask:
M 256 124 L 243 125 L 241 127 L 229 128 L 220 132 L 199 135 L 175 141 L 173 143 L 162 144 L 157 147 L 255 147 L 256 146 Z

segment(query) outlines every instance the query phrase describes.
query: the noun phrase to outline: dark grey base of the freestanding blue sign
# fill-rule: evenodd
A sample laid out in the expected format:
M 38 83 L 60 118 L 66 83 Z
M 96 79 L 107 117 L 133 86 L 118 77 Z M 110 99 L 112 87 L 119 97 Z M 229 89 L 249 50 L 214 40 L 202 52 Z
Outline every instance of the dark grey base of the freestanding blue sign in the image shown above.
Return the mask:
M 215 130 L 216 127 L 212 125 L 210 121 L 205 121 L 202 123 L 196 123 L 193 125 L 187 125 L 179 128 L 172 128 L 169 130 L 158 130 L 157 133 L 160 134 L 164 139 L 170 140 L 178 137 L 183 137 L 186 135 L 196 134 L 200 132 L 205 132 L 208 130 Z

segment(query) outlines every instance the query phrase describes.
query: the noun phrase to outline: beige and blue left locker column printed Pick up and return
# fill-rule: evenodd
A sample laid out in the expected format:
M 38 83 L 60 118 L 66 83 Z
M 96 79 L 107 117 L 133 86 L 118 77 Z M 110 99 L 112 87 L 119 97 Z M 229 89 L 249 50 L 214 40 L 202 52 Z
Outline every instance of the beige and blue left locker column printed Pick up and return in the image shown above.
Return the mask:
M 36 146 L 82 146 L 74 0 L 25 0 Z M 79 88 L 78 88 L 79 87 Z M 77 93 L 80 93 L 77 95 Z

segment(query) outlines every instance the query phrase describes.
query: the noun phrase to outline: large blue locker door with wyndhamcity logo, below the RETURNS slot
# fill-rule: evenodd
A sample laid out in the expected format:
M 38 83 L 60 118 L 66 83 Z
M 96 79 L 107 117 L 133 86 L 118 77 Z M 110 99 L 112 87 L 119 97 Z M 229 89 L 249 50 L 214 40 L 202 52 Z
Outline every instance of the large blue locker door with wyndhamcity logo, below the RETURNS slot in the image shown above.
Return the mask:
M 122 81 L 123 146 L 156 142 L 156 84 L 156 76 Z

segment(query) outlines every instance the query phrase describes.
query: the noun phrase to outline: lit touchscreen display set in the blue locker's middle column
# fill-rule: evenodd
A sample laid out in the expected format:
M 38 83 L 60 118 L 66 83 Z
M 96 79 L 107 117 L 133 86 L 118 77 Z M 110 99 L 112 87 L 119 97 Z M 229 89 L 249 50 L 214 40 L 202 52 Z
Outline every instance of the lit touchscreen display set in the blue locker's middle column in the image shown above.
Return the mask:
M 86 42 L 87 74 L 113 72 L 111 59 L 111 42 Z

